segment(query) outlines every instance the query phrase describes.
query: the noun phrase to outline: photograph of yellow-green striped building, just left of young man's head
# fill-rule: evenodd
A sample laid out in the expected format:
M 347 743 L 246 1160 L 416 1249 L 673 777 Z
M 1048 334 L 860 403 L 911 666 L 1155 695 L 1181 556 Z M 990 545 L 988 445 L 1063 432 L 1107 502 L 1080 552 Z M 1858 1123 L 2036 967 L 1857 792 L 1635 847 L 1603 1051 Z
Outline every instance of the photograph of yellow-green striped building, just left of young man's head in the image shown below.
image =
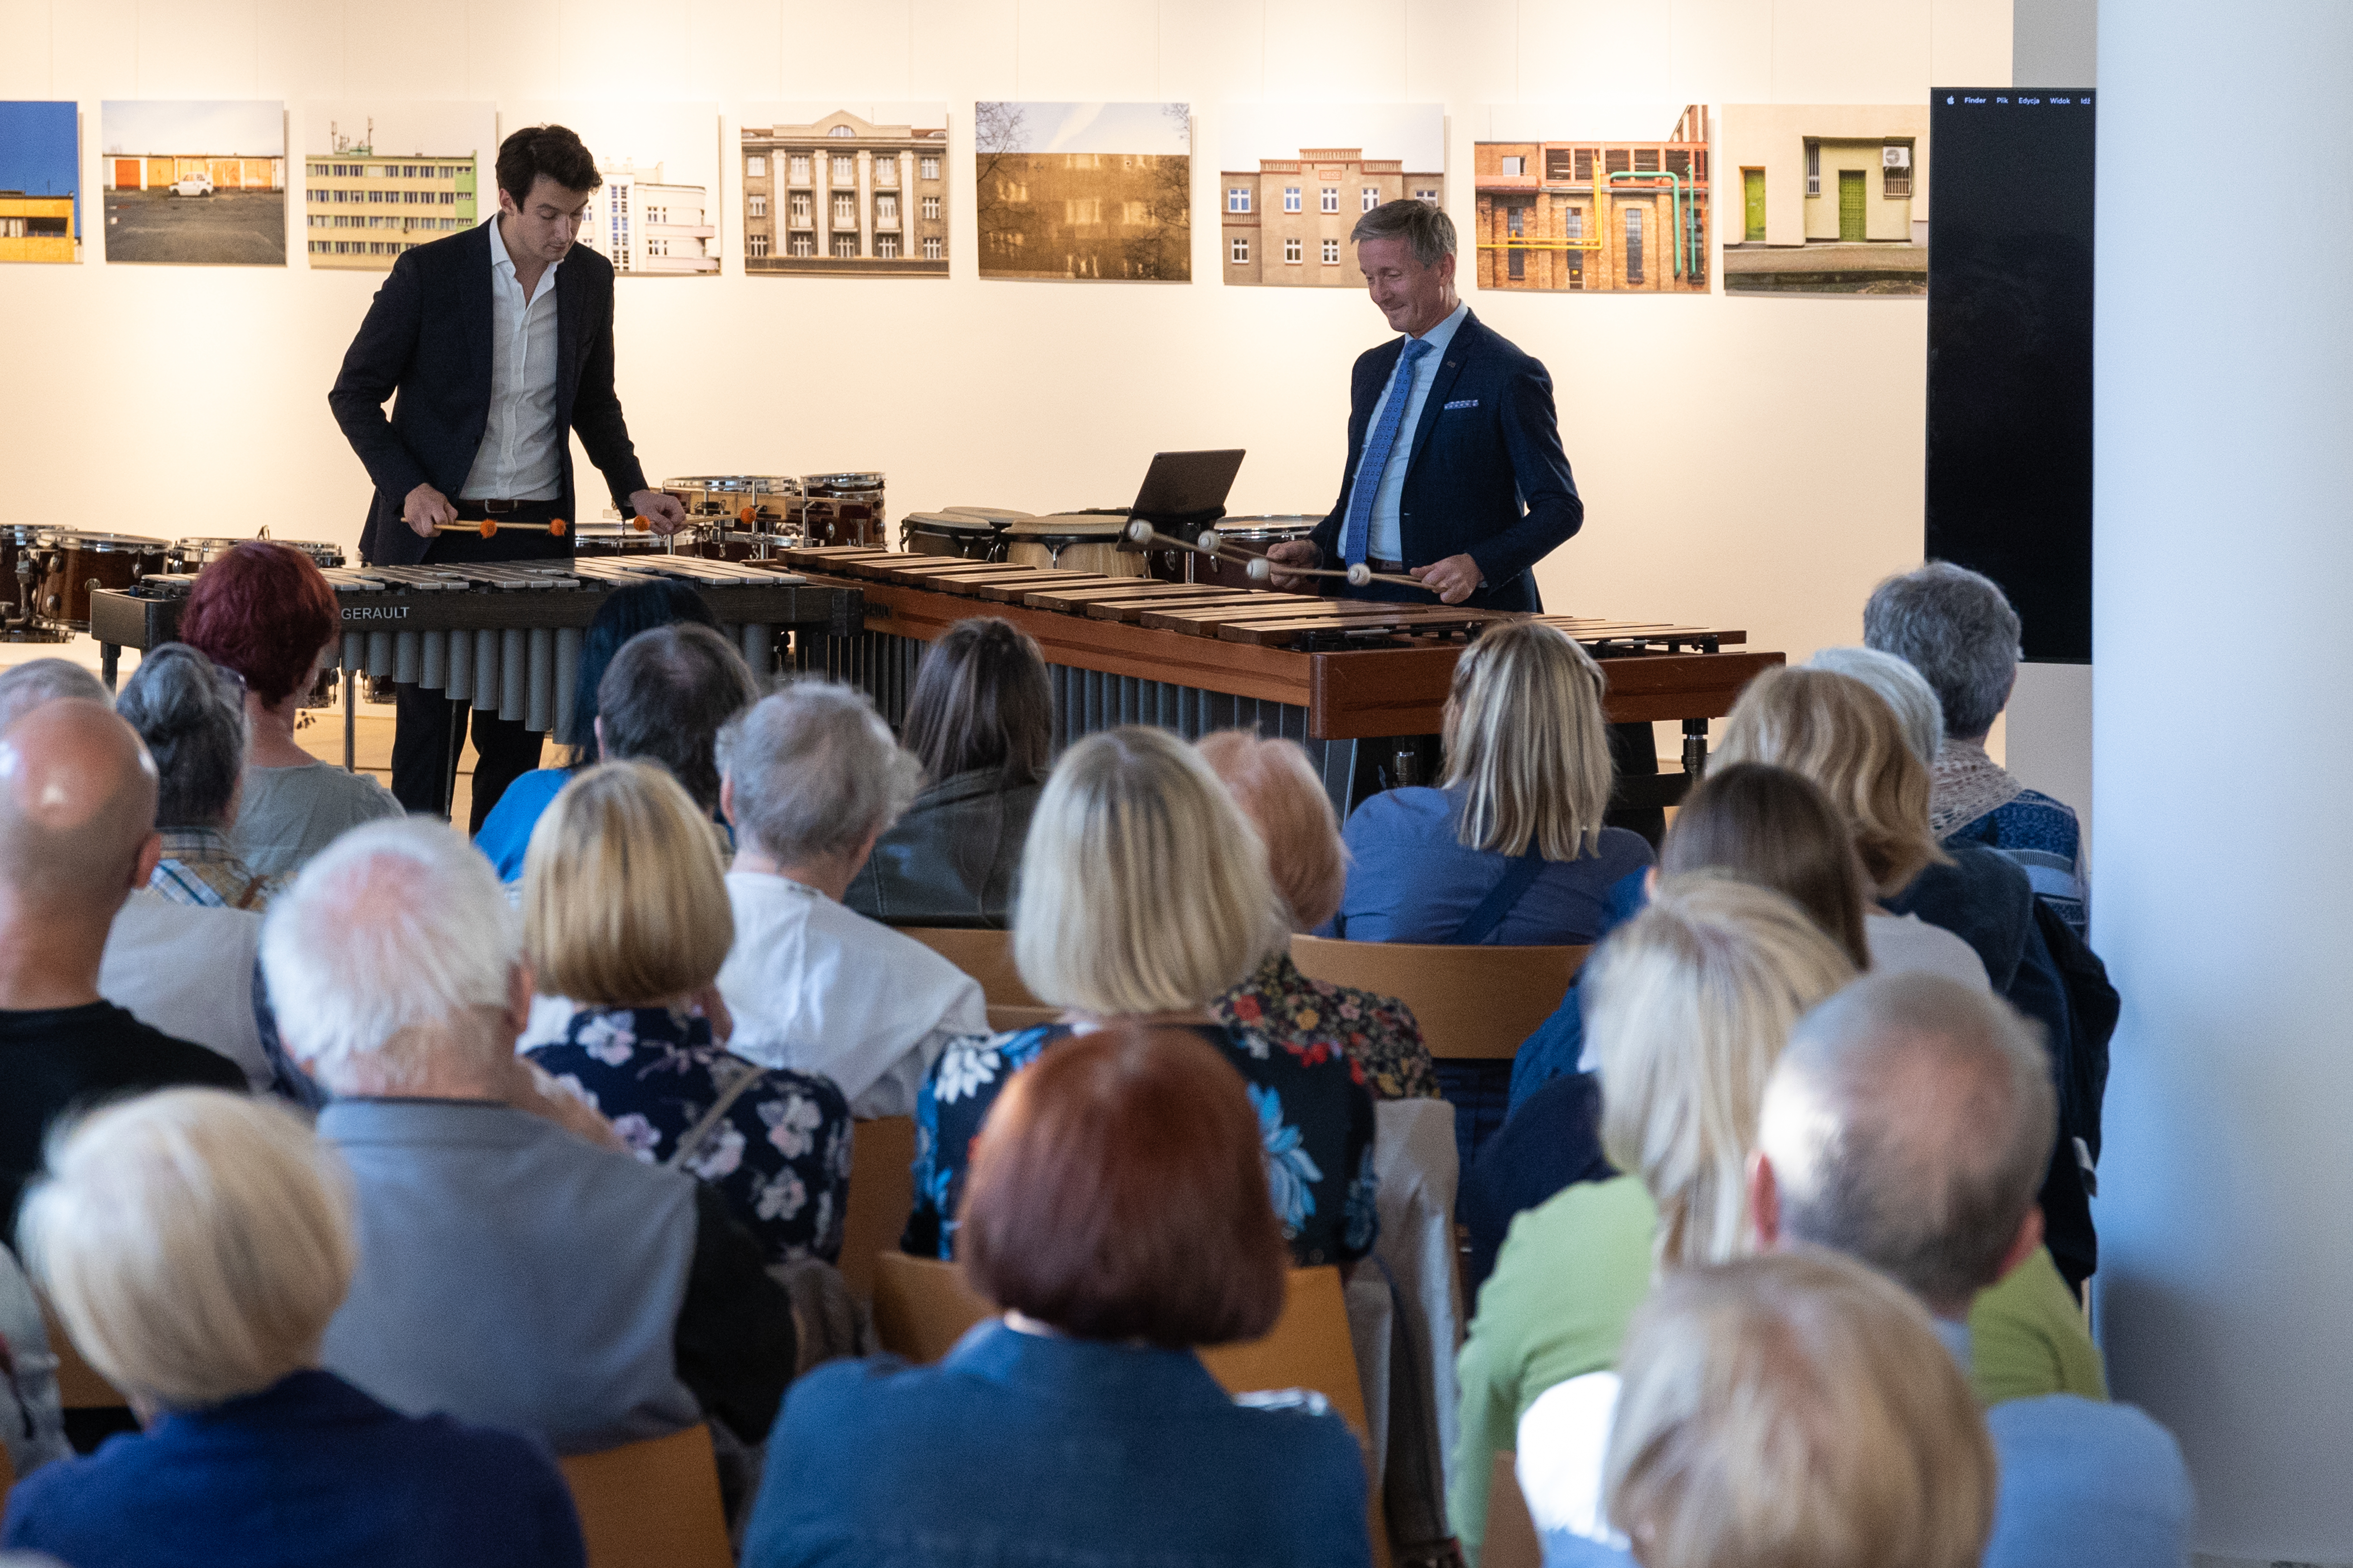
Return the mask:
M 301 148 L 304 254 L 313 268 L 388 273 L 400 252 L 499 209 L 492 103 L 304 103 Z

